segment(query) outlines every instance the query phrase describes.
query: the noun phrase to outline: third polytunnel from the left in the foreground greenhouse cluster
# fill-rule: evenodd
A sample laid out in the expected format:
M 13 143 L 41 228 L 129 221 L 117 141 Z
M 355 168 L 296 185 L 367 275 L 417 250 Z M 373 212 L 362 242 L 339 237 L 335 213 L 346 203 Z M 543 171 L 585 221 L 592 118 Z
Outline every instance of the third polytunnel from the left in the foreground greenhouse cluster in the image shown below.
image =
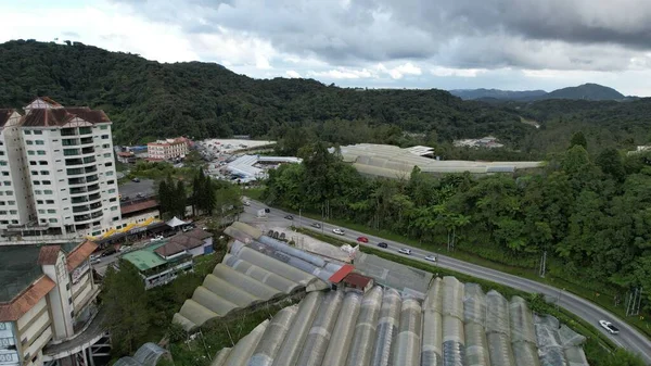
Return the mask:
M 294 366 L 296 364 L 307 332 L 322 301 L 323 292 L 320 291 L 310 292 L 301 301 L 298 313 L 280 346 L 276 359 L 273 359 L 273 366 Z

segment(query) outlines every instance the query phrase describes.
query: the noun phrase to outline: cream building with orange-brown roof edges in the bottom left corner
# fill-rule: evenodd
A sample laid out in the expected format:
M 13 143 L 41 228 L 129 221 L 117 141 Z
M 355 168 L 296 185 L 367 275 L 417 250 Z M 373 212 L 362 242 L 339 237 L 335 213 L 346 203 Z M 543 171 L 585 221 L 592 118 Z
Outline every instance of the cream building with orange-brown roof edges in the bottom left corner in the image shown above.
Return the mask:
M 95 248 L 0 247 L 1 365 L 89 364 L 106 337 L 89 263 Z

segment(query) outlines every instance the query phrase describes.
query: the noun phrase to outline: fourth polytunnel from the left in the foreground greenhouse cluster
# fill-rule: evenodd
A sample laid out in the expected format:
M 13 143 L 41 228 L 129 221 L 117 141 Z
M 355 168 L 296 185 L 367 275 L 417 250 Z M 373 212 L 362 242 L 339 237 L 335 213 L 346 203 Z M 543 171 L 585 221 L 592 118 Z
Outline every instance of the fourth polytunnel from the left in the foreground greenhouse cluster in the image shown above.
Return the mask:
M 299 366 L 320 366 L 328 350 L 328 341 L 336 321 L 344 299 L 342 291 L 330 291 L 317 314 L 312 327 L 305 339 L 303 352 L 298 357 Z

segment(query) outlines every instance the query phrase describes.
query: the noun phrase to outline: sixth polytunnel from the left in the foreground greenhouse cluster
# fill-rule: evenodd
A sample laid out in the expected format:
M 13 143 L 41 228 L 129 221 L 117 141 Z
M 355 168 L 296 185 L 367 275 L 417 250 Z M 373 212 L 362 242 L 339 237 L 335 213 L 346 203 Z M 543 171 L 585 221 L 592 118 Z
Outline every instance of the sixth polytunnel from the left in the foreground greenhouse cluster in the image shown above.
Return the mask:
M 361 301 L 355 335 L 348 353 L 347 366 L 369 366 L 373 342 L 375 340 L 375 327 L 378 315 L 382 304 L 382 288 L 373 287 Z

